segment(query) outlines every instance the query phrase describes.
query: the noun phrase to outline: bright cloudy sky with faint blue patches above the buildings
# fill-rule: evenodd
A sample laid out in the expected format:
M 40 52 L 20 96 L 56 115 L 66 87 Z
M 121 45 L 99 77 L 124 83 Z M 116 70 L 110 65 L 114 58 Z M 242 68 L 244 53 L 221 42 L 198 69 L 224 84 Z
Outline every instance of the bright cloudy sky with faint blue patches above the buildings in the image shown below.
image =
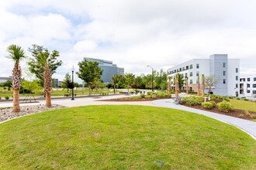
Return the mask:
M 0 0 L 0 76 L 12 74 L 11 44 L 26 56 L 32 44 L 59 51 L 59 80 L 85 56 L 140 75 L 220 53 L 240 59 L 240 74 L 256 73 L 255 8 L 254 0 Z

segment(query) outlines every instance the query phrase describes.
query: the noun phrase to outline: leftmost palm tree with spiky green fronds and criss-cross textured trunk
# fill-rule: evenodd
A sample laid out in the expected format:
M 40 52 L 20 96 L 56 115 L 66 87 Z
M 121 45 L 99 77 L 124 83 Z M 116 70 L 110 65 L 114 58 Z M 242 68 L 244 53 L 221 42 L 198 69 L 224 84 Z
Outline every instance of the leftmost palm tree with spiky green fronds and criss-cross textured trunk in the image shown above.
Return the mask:
M 19 112 L 19 89 L 22 83 L 22 70 L 19 66 L 19 62 L 26 58 L 24 50 L 20 46 L 10 45 L 7 48 L 9 56 L 6 56 L 9 59 L 14 61 L 14 68 L 12 70 L 12 89 L 13 89 L 13 112 Z

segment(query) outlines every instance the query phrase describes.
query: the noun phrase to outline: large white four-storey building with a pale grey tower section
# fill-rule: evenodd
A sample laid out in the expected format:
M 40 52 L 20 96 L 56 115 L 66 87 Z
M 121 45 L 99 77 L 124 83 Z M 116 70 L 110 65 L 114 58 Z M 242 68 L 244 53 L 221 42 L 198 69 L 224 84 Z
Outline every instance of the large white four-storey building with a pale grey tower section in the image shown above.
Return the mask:
M 239 59 L 228 59 L 227 54 L 213 54 L 209 59 L 191 59 L 167 70 L 171 83 L 175 84 L 175 74 L 189 77 L 189 90 L 197 90 L 197 77 L 215 75 L 219 83 L 212 90 L 214 94 L 235 96 L 239 90 Z M 185 90 L 185 87 L 183 87 Z M 205 93 L 208 93 L 206 89 Z

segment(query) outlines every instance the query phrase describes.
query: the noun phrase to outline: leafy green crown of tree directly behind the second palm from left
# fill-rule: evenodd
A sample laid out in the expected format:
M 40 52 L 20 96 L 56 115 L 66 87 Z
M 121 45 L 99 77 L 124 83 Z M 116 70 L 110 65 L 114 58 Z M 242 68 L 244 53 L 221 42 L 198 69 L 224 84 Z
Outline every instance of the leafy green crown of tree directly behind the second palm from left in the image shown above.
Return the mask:
M 44 56 L 47 56 L 48 67 L 50 70 L 50 76 L 56 73 L 57 67 L 61 66 L 63 63 L 61 60 L 57 60 L 57 57 L 60 56 L 57 50 L 50 52 L 48 49 L 43 48 L 43 46 L 38 46 L 36 44 L 32 45 L 32 48 L 29 48 L 28 51 L 32 54 L 33 58 L 29 58 L 29 70 L 31 73 L 35 73 L 36 78 L 40 80 L 41 86 L 43 87 L 43 72 L 44 65 L 40 59 L 40 53 L 43 53 Z

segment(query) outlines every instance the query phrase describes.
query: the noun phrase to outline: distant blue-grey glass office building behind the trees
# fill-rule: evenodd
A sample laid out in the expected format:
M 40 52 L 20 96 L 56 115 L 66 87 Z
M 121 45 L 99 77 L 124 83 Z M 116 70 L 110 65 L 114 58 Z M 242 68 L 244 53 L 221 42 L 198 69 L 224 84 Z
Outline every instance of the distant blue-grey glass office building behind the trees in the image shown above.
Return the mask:
M 112 79 L 111 77 L 116 74 L 124 74 L 124 69 L 121 67 L 117 67 L 116 64 L 113 64 L 112 61 L 103 60 L 103 59 L 94 59 L 94 58 L 88 58 L 85 57 L 88 61 L 96 61 L 99 63 L 99 66 L 103 70 L 101 80 L 103 83 L 111 83 Z

